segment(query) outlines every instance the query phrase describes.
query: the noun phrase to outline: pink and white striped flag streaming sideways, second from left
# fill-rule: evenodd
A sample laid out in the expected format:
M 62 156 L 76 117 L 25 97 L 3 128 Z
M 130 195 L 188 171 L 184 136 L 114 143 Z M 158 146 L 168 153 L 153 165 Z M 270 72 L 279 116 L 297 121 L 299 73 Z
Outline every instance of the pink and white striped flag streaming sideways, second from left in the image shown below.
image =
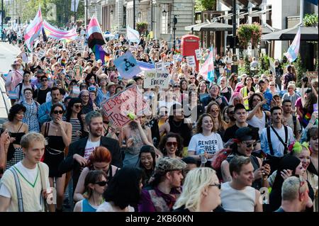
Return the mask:
M 50 25 L 50 23 L 47 23 L 47 21 L 43 21 L 43 29 L 45 30 L 47 37 L 55 40 L 65 40 L 66 42 L 69 42 L 76 40 L 78 37 L 76 28 L 72 28 L 71 30 L 60 30 Z

